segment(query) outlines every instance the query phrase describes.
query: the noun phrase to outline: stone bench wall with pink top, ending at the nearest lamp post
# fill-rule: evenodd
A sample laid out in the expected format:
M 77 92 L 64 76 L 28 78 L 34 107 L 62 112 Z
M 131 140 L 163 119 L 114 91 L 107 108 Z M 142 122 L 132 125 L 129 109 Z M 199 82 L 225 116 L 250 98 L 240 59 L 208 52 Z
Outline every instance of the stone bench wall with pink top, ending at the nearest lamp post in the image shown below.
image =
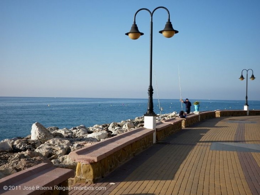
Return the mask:
M 78 162 L 75 183 L 94 183 L 153 144 L 152 129 L 140 127 L 69 154 Z

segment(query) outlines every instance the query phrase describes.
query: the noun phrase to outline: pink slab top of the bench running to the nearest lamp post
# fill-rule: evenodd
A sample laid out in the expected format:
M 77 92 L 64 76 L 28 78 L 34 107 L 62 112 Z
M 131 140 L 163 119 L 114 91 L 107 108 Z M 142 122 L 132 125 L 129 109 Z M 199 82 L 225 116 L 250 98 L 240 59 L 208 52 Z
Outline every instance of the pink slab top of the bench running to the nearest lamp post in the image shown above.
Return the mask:
M 140 127 L 138 129 L 107 138 L 100 142 L 96 142 L 79 150 L 72 151 L 69 153 L 69 156 L 73 161 L 91 164 L 106 158 L 110 154 L 113 154 L 123 147 L 130 145 L 131 143 L 134 143 L 135 141 L 140 140 L 153 132 L 153 129 Z

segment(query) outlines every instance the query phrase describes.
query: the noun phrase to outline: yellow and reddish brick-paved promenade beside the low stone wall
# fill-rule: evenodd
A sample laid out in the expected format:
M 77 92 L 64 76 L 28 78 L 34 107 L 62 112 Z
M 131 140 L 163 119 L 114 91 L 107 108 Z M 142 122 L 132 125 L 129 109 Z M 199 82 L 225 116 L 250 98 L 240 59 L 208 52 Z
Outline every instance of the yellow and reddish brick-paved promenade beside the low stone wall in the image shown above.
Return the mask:
M 200 122 L 69 194 L 260 194 L 260 116 Z

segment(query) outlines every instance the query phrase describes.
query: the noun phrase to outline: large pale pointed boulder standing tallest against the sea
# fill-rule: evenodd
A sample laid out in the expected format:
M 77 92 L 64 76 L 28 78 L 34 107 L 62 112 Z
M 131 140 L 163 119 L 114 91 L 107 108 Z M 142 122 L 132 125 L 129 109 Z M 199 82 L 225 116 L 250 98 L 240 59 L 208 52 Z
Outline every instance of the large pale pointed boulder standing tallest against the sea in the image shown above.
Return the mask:
M 40 140 L 42 143 L 49 139 L 53 139 L 54 136 L 48 131 L 42 124 L 36 122 L 32 125 L 31 139 Z

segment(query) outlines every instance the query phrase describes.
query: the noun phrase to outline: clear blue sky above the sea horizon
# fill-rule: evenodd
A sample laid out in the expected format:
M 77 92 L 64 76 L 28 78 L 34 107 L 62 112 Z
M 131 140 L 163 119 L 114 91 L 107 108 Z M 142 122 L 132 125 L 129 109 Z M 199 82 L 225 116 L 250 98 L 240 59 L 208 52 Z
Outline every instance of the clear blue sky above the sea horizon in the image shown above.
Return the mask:
M 154 98 L 260 100 L 260 1 L 0 1 L 0 96 L 147 98 L 150 15 Z M 248 71 L 248 77 L 252 74 Z M 246 71 L 243 72 L 246 77 Z M 156 82 L 155 82 L 156 76 Z

